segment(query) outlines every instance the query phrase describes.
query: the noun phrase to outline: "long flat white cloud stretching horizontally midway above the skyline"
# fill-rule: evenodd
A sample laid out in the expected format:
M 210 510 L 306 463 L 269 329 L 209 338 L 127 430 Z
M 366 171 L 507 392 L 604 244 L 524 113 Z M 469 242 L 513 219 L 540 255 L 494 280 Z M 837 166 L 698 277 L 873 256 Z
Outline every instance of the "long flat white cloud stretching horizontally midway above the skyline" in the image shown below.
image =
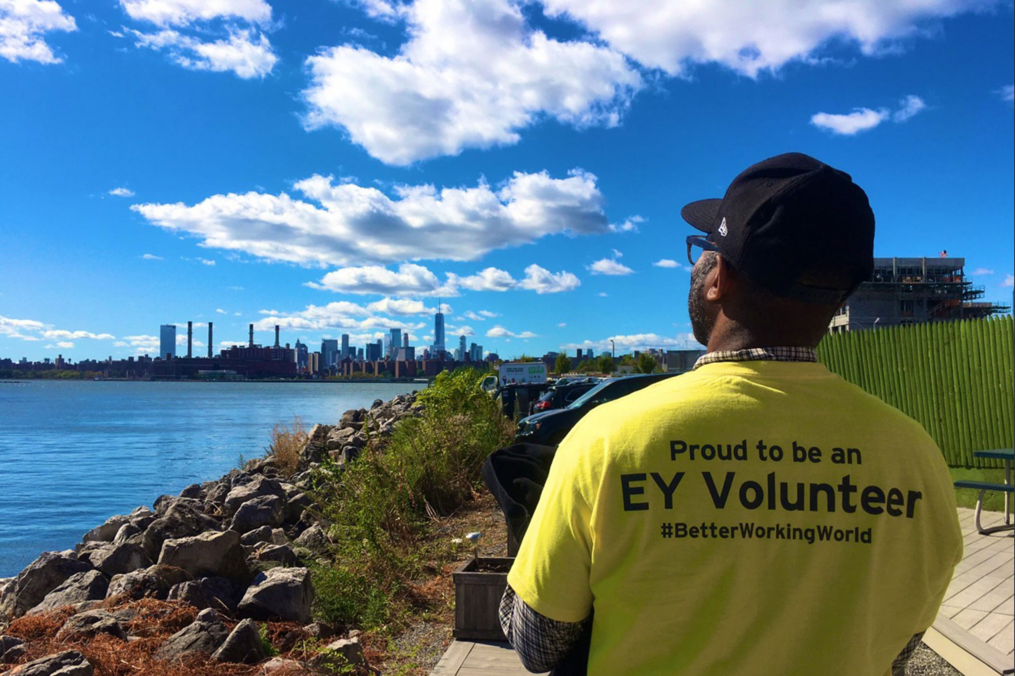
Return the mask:
M 392 199 L 376 187 L 314 175 L 285 193 L 215 195 L 194 206 L 141 204 L 153 225 L 199 237 L 204 246 L 303 266 L 445 258 L 489 251 L 551 234 L 609 231 L 596 176 L 516 172 L 500 190 L 402 185 Z

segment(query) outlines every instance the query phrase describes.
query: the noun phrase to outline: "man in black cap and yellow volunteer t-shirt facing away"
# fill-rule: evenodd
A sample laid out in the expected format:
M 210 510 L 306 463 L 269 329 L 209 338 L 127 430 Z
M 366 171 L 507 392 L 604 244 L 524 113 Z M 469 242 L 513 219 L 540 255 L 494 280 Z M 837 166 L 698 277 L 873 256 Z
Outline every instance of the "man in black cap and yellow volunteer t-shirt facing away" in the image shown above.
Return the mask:
M 681 214 L 707 352 L 561 443 L 501 625 L 533 671 L 591 623 L 593 676 L 901 674 L 962 544 L 931 438 L 816 363 L 873 270 L 867 196 L 791 153 Z

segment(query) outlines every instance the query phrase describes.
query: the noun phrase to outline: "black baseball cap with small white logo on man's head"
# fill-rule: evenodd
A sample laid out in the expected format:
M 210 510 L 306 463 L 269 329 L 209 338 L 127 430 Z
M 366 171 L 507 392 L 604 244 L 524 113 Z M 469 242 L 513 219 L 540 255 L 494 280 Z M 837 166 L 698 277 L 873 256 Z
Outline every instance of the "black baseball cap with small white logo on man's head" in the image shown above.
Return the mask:
M 722 200 L 680 210 L 737 271 L 767 291 L 839 303 L 874 272 L 874 212 L 863 189 L 803 153 L 747 167 Z

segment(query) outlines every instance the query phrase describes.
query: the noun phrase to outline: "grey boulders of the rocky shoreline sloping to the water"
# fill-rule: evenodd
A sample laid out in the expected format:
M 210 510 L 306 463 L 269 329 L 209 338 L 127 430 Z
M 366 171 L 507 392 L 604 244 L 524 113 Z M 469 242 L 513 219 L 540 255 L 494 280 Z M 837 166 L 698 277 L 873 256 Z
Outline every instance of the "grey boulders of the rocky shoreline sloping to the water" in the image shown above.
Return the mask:
M 95 665 L 78 650 L 33 655 L 25 627 L 56 616 L 60 626 L 48 645 L 72 647 L 98 635 L 129 645 L 145 639 L 137 620 L 153 600 L 197 612 L 153 647 L 153 660 L 257 665 L 252 673 L 263 674 L 336 667 L 368 673 L 354 629 L 313 621 L 310 566 L 327 560 L 331 540 L 311 483 L 326 458 L 354 461 L 398 421 L 418 415 L 419 405 L 413 393 L 347 410 L 337 425 L 314 426 L 291 476 L 283 476 L 276 457 L 253 460 L 217 480 L 160 496 L 151 508 L 114 516 L 74 548 L 44 552 L 16 577 L 0 579 L 0 673 L 92 676 Z M 288 627 L 286 644 L 303 640 L 307 659 L 268 660 L 266 622 Z M 318 654 L 308 645 L 320 647 Z

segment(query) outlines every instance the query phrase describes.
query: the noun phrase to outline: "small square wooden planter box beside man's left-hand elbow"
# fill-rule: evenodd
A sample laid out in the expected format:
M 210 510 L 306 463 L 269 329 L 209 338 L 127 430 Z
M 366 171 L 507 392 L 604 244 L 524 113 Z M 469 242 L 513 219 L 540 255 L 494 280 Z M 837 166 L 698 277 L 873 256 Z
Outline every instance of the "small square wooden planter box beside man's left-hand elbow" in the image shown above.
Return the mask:
M 455 630 L 452 633 L 456 639 L 506 641 L 497 610 L 507 586 L 507 571 L 514 561 L 514 556 L 480 556 L 470 558 L 455 571 Z M 493 568 L 498 572 L 477 568 Z

